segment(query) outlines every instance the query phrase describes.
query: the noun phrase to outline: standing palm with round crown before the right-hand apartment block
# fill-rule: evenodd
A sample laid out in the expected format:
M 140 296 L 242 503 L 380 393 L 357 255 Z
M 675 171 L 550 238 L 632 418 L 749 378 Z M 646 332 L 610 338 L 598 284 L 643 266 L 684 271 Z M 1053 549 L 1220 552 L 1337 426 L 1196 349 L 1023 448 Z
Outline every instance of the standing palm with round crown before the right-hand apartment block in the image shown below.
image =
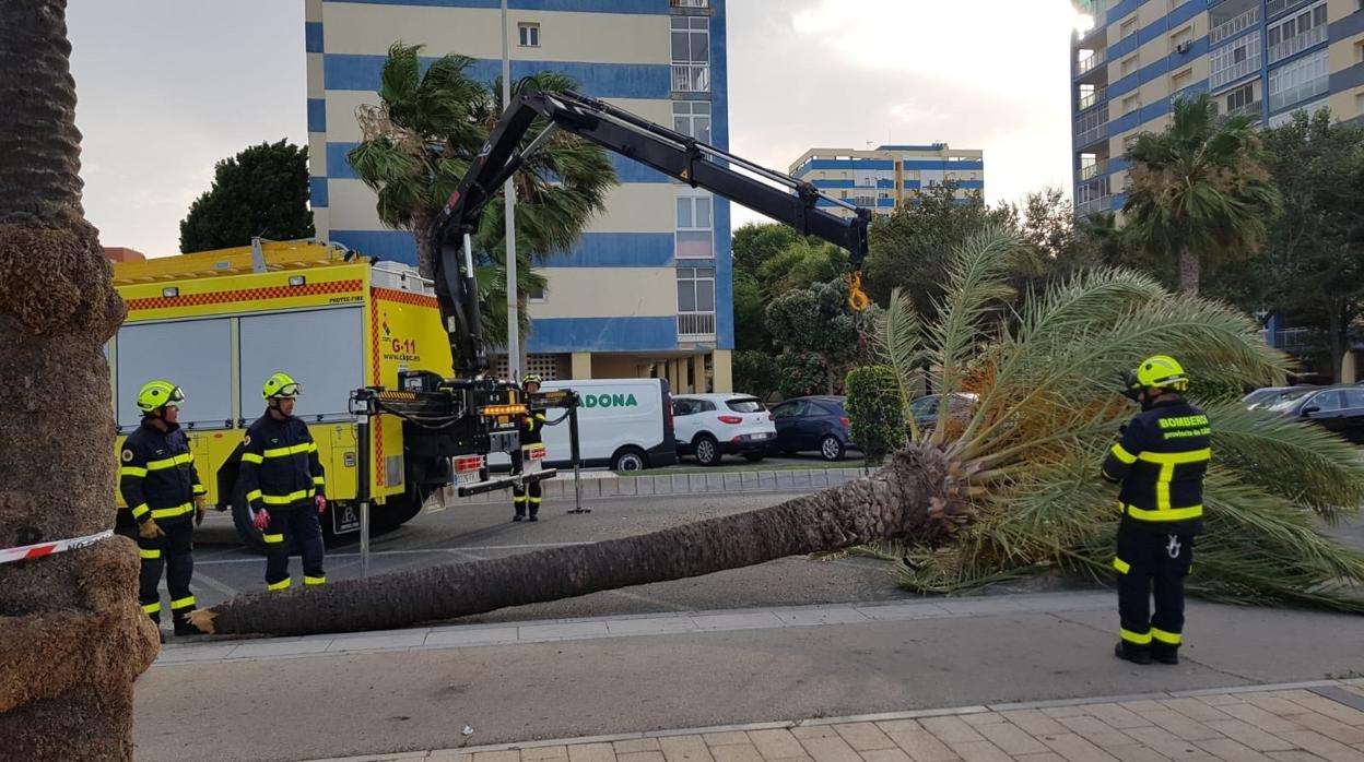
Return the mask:
M 1206 93 L 1180 98 L 1169 127 L 1143 132 L 1127 153 L 1123 213 L 1148 254 L 1177 263 L 1181 293 L 1199 293 L 1204 262 L 1244 259 L 1264 241 L 1278 192 L 1254 124 L 1218 119 Z

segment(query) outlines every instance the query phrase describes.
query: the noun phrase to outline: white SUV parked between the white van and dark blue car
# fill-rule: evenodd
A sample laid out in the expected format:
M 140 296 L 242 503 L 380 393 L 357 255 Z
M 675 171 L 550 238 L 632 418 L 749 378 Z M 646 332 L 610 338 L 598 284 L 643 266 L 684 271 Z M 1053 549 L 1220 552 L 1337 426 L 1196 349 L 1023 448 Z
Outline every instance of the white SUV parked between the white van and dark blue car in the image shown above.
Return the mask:
M 761 399 L 747 394 L 674 397 L 672 432 L 678 455 L 696 454 L 702 466 L 717 465 L 726 454 L 742 454 L 756 463 L 776 442 L 772 413 Z

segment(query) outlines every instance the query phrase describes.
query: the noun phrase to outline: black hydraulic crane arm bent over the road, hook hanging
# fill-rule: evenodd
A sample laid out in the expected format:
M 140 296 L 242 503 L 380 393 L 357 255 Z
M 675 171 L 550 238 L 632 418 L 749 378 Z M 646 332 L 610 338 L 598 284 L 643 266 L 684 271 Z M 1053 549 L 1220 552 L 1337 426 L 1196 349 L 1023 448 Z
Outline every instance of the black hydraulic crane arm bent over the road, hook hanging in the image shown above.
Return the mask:
M 518 150 L 537 120 L 548 124 L 524 150 Z M 859 273 L 868 248 L 866 230 L 872 217 L 868 210 L 827 196 L 810 183 L 758 166 L 603 101 L 577 93 L 527 93 L 503 112 L 431 232 L 432 251 L 436 252 L 436 296 L 460 375 L 477 376 L 488 368 L 471 237 L 488 202 L 555 129 L 572 132 L 693 188 L 704 188 L 790 225 L 802 234 L 847 249 L 853 267 L 850 301 L 857 309 L 866 307 Z M 821 199 L 854 214 L 840 217 L 820 209 L 817 202 Z

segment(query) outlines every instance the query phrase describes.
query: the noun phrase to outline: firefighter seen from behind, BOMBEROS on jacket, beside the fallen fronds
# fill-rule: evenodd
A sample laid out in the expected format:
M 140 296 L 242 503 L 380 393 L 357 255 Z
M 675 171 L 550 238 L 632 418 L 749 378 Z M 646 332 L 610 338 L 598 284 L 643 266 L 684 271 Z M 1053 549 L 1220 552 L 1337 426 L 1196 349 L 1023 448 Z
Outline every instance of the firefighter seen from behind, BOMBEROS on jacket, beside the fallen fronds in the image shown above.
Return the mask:
M 1188 376 L 1173 357 L 1148 357 L 1124 379 L 1142 412 L 1123 427 L 1103 459 L 1103 478 L 1121 484 L 1117 529 L 1117 657 L 1178 664 L 1184 577 L 1203 529 L 1203 476 L 1213 457 L 1207 416 L 1183 393 Z M 1155 613 L 1150 615 L 1151 594 Z

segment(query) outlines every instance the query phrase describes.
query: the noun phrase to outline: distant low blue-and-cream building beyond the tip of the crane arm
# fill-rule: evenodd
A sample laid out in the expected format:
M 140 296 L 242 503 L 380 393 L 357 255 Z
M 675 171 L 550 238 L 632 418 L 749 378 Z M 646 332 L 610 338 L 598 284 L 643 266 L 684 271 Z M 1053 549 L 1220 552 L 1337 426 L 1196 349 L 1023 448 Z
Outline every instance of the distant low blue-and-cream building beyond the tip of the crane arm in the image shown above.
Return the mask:
M 874 150 L 810 149 L 791 162 L 790 173 L 829 196 L 877 214 L 891 214 L 913 202 L 921 188 L 956 183 L 956 200 L 985 194 L 985 154 L 928 146 L 877 146 Z M 820 199 L 820 207 L 842 217 L 853 210 Z

